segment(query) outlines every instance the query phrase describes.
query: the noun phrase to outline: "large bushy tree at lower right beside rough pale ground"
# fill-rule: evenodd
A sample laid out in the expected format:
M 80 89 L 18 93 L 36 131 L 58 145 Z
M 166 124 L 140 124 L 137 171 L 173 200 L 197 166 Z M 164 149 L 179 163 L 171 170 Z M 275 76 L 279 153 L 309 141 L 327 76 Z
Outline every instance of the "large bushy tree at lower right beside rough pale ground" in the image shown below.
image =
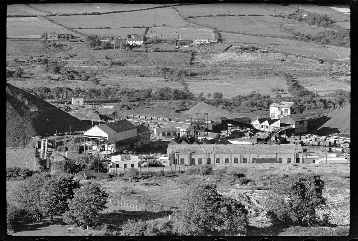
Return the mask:
M 274 224 L 309 226 L 328 221 L 328 214 L 321 219 L 316 210 L 326 207 L 322 191 L 324 181 L 318 175 L 298 174 L 287 178 L 275 190 L 267 217 Z

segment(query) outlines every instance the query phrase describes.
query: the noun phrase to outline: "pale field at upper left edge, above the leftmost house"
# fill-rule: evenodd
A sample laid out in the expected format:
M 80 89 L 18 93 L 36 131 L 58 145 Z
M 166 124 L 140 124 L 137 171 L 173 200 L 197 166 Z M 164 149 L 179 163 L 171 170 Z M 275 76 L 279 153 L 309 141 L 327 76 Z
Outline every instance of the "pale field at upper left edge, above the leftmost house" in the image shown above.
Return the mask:
M 40 38 L 43 33 L 72 33 L 37 17 L 6 18 L 6 36 L 10 38 Z

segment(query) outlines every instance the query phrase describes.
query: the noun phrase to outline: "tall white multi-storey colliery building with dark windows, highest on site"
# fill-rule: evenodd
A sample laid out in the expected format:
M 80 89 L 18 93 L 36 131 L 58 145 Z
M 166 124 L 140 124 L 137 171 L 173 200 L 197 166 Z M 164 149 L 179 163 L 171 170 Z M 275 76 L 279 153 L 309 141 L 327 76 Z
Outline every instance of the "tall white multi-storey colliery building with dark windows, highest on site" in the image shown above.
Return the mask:
M 300 106 L 294 102 L 281 101 L 280 104 L 272 103 L 270 105 L 270 117 L 272 119 L 281 119 L 286 115 L 302 114 L 306 107 Z

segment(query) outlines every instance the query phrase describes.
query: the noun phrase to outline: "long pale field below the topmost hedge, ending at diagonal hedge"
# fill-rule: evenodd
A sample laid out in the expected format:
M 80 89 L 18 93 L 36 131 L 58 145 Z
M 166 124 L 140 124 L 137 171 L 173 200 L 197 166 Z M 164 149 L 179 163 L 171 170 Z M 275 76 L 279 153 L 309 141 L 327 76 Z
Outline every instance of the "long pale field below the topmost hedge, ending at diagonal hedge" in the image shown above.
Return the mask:
M 57 23 L 71 28 L 131 28 L 132 26 L 152 26 L 153 24 L 161 26 L 186 26 L 182 18 L 172 8 L 159 8 L 144 11 L 135 11 L 127 13 L 111 13 L 103 15 L 81 15 L 81 16 L 54 16 L 49 17 Z

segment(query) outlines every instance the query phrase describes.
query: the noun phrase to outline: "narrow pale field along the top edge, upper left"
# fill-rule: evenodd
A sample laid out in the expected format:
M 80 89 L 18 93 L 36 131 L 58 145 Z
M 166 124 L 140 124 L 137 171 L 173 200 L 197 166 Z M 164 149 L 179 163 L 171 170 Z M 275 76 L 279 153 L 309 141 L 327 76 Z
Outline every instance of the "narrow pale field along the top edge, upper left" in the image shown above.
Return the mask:
M 108 3 L 55 3 L 55 4 L 29 4 L 34 8 L 56 14 L 81 14 L 81 13 L 107 13 L 112 11 L 128 11 L 137 9 L 154 8 L 163 4 L 108 4 Z

